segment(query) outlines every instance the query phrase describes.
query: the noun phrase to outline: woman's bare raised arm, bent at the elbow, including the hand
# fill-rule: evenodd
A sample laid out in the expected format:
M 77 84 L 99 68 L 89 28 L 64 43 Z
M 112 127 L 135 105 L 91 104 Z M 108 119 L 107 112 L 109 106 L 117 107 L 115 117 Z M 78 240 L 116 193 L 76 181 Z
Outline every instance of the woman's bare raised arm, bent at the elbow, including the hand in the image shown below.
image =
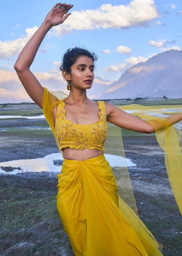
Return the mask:
M 36 33 L 27 42 L 14 65 L 16 73 L 28 95 L 41 108 L 44 89 L 30 71 L 30 66 L 47 32 L 51 29 L 51 27 L 63 23 L 71 14 L 66 14 L 66 12 L 68 12 L 72 7 L 73 5 L 70 4 L 55 4 L 55 6 L 47 14 L 44 22 L 38 28 Z

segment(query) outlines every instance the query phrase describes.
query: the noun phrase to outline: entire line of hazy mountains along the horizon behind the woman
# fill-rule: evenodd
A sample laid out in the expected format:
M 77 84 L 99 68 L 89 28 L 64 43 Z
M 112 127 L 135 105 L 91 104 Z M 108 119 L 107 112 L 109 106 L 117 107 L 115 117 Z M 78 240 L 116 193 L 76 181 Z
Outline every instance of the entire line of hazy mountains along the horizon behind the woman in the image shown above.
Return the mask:
M 40 83 L 51 91 L 67 93 L 66 83 L 60 76 L 35 74 Z M 127 98 L 182 98 L 182 50 L 159 53 L 146 62 L 127 69 L 116 82 L 95 76 L 92 88 L 87 90 L 91 99 Z M 31 102 L 15 72 L 0 70 L 0 103 Z

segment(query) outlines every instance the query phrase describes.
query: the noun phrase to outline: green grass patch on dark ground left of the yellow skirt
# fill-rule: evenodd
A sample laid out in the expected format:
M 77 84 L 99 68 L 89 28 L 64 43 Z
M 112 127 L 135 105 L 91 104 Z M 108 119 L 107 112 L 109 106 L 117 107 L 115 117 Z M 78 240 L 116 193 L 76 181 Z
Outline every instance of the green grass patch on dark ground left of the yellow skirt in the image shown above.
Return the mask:
M 1 201 L 2 230 L 7 232 L 10 229 L 31 228 L 37 222 L 48 221 L 57 216 L 55 195 L 46 195 L 45 203 L 44 193 L 38 193 L 35 198 L 32 198 L 32 193 L 34 192 L 18 188 L 16 183 L 1 188 L 1 194 L 6 195 Z

